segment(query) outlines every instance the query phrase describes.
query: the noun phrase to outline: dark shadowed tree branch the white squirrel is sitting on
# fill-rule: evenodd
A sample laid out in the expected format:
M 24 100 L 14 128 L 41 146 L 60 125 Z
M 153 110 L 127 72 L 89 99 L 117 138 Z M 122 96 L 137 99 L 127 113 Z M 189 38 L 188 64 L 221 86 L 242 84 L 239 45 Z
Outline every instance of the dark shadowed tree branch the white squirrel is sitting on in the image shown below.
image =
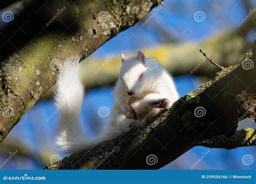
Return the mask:
M 255 45 L 256 42 L 253 53 L 246 54 L 237 65 L 217 73 L 214 79 L 127 135 L 46 168 L 157 169 L 196 145 L 225 148 L 255 145 L 255 130 L 235 132 L 242 119 L 250 117 L 255 121 Z M 153 165 L 146 161 L 152 154 L 157 160 Z

